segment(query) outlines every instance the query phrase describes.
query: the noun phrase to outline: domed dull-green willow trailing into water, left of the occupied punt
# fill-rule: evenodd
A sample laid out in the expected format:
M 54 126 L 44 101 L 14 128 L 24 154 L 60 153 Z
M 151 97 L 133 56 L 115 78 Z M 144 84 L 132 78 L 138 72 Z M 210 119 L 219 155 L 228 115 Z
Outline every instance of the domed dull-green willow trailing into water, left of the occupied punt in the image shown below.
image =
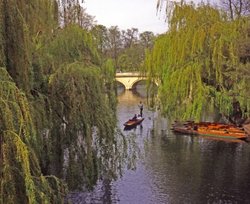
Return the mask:
M 65 176 L 71 189 L 90 187 L 104 168 L 97 152 L 112 149 L 116 124 L 101 73 L 75 62 L 52 74 L 49 85 L 54 121 L 50 151 L 56 164 L 52 171 Z

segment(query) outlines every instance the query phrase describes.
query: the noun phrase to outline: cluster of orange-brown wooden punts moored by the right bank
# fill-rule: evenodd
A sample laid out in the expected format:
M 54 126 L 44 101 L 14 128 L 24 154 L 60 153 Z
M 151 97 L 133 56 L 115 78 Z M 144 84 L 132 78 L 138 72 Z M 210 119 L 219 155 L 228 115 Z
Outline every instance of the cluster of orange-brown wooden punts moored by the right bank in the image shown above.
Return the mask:
M 246 139 L 247 133 L 243 128 L 232 124 L 200 122 L 193 121 L 178 122 L 172 125 L 172 130 L 176 133 L 204 135 L 212 137 L 223 137 L 231 139 Z

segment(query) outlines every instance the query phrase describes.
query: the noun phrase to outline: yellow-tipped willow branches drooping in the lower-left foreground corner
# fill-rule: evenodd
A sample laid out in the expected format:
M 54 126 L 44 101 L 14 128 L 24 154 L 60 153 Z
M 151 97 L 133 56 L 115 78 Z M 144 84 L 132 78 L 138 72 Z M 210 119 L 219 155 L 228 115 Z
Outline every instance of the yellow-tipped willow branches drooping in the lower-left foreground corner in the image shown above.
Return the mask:
M 63 203 L 63 183 L 41 174 L 38 144 L 25 95 L 0 68 L 0 203 Z

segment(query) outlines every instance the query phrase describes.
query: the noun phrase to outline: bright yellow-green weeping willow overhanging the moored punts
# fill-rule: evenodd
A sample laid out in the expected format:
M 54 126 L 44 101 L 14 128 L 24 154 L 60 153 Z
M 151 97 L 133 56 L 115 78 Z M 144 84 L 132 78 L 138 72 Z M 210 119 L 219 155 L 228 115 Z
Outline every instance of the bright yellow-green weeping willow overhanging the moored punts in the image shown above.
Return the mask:
M 249 75 L 242 75 L 237 43 L 242 30 L 249 29 L 249 19 L 227 21 L 209 5 L 183 1 L 167 12 L 169 31 L 158 37 L 146 58 L 148 75 L 160 83 L 163 113 L 200 119 L 216 107 L 230 115 L 235 99 L 249 116 Z

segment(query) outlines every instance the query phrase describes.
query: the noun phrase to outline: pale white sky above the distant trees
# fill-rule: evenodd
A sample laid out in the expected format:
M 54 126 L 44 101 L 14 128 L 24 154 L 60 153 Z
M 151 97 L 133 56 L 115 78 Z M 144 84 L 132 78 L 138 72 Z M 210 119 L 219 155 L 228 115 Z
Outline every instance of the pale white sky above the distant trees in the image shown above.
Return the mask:
M 138 28 L 139 32 L 167 31 L 163 13 L 157 13 L 157 0 L 84 0 L 83 7 L 95 16 L 98 24 L 107 28 L 118 26 L 120 30 Z

